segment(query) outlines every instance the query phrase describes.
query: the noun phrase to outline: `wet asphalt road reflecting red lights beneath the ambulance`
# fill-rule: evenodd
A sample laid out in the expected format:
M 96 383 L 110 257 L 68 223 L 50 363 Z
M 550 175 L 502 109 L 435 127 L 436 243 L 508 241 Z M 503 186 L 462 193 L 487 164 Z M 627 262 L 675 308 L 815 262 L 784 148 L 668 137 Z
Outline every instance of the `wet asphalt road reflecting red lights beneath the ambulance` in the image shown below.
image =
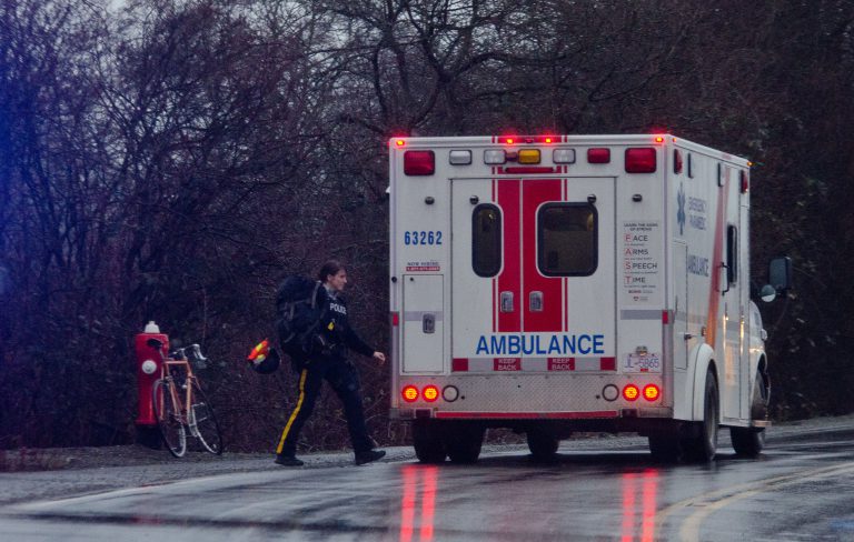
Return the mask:
M 0 540 L 854 541 L 854 419 L 771 431 L 758 460 L 722 431 L 707 465 L 656 464 L 639 439 L 567 442 L 548 465 L 518 446 L 475 465 L 265 463 L 6 504 Z

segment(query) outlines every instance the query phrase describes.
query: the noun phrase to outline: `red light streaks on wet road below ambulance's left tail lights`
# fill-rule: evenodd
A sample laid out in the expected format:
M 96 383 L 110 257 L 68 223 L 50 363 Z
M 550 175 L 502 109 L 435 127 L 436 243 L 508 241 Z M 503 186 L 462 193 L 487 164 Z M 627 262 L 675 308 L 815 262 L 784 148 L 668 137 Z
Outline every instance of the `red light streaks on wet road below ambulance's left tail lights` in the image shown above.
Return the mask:
M 436 513 L 436 482 L 438 466 L 405 465 L 403 496 L 400 499 L 400 542 L 411 542 L 416 528 L 416 508 L 421 502 L 418 540 L 431 541 Z

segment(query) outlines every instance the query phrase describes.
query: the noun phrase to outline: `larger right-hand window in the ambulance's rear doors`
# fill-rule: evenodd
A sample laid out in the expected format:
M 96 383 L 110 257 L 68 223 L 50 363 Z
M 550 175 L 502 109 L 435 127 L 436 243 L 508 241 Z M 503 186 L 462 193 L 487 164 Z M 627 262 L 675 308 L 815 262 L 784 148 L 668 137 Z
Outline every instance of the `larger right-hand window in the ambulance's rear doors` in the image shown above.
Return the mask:
M 537 217 L 537 263 L 545 275 L 587 277 L 596 271 L 598 214 L 587 202 L 546 203 Z

